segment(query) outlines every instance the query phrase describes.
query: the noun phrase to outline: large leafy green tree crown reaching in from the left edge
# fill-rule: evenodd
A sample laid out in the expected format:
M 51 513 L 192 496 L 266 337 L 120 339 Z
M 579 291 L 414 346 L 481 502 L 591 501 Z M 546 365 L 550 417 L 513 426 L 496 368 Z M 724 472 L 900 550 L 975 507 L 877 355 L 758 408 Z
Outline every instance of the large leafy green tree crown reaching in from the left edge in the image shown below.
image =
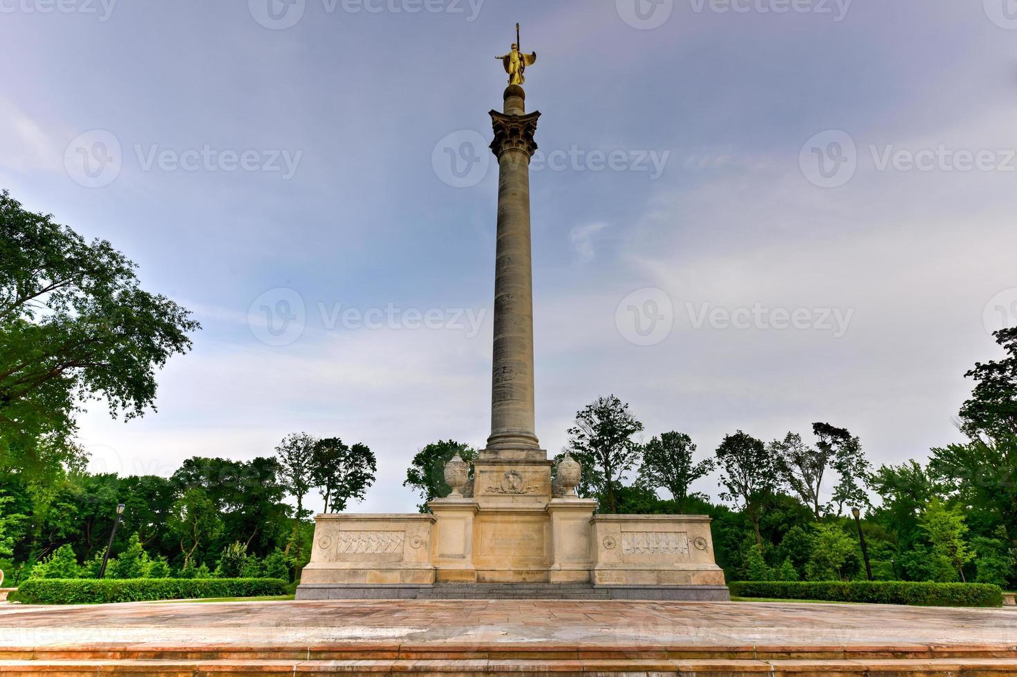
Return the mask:
M 136 265 L 0 192 L 0 452 L 72 435 L 82 403 L 130 419 L 154 409 L 155 372 L 190 350 L 190 312 L 141 289 Z

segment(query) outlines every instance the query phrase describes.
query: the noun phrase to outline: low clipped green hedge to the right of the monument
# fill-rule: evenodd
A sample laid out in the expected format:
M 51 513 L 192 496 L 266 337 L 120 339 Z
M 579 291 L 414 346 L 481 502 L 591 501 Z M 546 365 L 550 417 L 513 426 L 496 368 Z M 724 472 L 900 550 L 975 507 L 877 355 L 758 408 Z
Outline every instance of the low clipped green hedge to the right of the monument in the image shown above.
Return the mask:
M 926 607 L 1001 607 L 1003 591 L 984 583 L 852 580 L 809 582 L 732 582 L 734 597 L 774 600 L 819 600 L 868 604 L 910 604 Z

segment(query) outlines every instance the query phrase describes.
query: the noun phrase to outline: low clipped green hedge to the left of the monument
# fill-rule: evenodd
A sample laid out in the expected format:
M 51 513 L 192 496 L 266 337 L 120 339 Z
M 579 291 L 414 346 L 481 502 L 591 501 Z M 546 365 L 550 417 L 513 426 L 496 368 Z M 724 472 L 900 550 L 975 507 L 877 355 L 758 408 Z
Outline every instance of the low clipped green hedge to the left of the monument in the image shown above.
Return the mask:
M 18 587 L 26 604 L 104 604 L 286 595 L 281 578 L 29 578 Z

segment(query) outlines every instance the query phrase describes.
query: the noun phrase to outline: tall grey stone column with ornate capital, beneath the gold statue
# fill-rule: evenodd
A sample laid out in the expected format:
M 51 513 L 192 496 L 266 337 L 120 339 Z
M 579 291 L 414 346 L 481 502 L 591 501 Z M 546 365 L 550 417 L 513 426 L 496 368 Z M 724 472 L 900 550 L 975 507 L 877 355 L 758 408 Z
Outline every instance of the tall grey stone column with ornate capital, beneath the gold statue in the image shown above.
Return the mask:
M 540 113 L 526 114 L 526 93 L 504 91 L 491 111 L 498 159 L 498 230 L 494 263 L 494 359 L 487 450 L 538 449 L 533 405 L 533 274 L 530 258 L 530 159 Z

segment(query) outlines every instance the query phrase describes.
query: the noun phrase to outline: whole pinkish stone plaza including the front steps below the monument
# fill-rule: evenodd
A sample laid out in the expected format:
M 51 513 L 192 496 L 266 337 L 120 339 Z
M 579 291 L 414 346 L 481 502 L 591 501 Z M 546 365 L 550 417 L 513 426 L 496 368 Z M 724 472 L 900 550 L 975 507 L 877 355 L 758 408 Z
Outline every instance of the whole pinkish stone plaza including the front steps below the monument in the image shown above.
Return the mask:
M 832 604 L 334 601 L 0 609 L 0 672 L 984 674 L 1017 611 Z

